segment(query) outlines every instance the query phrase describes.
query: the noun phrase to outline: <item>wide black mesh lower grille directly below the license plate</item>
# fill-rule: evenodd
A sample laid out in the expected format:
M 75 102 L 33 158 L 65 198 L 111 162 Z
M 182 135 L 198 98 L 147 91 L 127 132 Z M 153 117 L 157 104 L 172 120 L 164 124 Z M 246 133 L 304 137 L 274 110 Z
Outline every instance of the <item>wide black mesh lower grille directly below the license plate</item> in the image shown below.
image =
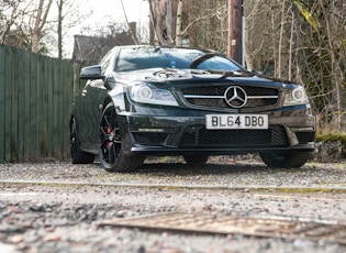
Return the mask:
M 284 128 L 270 125 L 267 130 L 207 130 L 204 125 L 190 125 L 186 129 L 181 147 L 266 147 L 288 146 Z

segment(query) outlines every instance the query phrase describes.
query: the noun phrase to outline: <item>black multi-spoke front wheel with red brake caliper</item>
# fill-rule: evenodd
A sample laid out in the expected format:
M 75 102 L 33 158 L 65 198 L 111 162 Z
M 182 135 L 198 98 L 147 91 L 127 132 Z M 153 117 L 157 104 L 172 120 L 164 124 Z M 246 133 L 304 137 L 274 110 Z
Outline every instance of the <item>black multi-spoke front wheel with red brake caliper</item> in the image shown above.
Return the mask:
M 124 152 L 131 146 L 131 140 L 127 134 L 122 135 L 112 102 L 103 110 L 99 125 L 99 141 L 100 163 L 107 172 L 129 173 L 142 166 L 145 157 L 126 155 Z

